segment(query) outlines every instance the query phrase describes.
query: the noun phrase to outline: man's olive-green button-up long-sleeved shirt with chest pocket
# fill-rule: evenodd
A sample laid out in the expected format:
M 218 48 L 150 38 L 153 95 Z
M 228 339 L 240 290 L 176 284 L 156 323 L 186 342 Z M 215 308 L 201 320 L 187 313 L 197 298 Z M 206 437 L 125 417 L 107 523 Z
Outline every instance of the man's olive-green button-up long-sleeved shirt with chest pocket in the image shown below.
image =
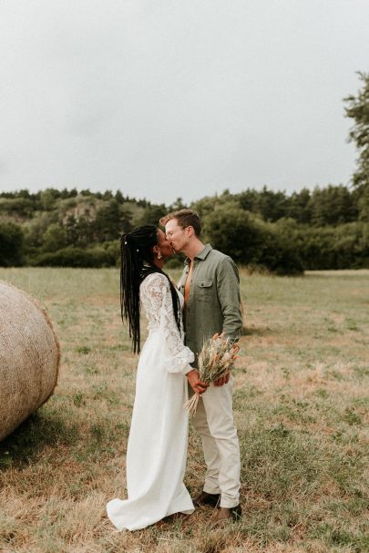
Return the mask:
M 193 365 L 197 366 L 198 354 L 210 336 L 224 331 L 232 339 L 240 337 L 242 317 L 239 271 L 231 257 L 213 250 L 207 244 L 193 262 L 184 327 L 185 343 L 195 353 Z M 189 264 L 187 258 L 179 281 L 179 291 L 182 293 Z

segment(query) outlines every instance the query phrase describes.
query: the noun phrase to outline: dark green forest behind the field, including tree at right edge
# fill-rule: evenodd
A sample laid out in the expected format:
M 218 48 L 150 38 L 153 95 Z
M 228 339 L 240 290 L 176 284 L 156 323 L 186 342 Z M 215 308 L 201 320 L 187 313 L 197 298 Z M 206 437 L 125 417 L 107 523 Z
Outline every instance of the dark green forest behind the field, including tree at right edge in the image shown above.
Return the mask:
M 266 186 L 194 201 L 203 241 L 250 270 L 277 274 L 369 267 L 369 75 L 344 98 L 358 150 L 350 186 L 304 188 L 287 195 Z M 327 160 L 333 162 L 332 160 Z M 108 267 L 118 264 L 119 235 L 184 207 L 116 192 L 47 188 L 0 193 L 0 266 Z M 179 256 L 170 260 L 180 263 Z

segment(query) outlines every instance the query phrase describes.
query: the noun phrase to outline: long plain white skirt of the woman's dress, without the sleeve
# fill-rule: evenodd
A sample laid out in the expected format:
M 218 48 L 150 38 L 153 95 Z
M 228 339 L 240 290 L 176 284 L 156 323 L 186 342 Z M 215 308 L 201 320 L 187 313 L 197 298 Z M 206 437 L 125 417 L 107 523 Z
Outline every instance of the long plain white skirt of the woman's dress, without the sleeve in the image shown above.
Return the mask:
M 107 511 L 119 530 L 148 527 L 173 513 L 193 512 L 183 484 L 189 419 L 183 404 L 187 379 L 170 373 L 159 331 L 150 331 L 142 349 L 127 450 L 128 499 L 112 499 Z

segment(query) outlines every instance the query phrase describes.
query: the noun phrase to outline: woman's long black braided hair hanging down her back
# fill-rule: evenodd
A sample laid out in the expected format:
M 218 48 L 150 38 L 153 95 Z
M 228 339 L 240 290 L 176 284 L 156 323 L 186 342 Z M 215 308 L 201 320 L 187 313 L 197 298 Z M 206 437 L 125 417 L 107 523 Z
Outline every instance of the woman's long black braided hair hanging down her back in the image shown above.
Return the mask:
M 178 293 L 166 272 L 154 264 L 153 247 L 158 244 L 158 228 L 145 225 L 123 234 L 120 239 L 120 313 L 122 321 L 128 320 L 129 336 L 133 352 L 140 351 L 139 286 L 149 274 L 159 272 L 169 282 L 174 318 L 180 328 Z

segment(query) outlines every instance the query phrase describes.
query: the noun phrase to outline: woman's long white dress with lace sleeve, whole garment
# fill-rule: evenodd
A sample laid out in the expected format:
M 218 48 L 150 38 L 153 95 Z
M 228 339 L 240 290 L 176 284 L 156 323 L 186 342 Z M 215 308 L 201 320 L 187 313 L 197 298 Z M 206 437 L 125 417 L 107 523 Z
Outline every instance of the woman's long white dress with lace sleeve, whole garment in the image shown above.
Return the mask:
M 183 404 L 194 355 L 174 318 L 169 282 L 155 272 L 140 285 L 149 336 L 138 361 L 136 396 L 127 449 L 128 499 L 112 499 L 107 511 L 119 530 L 138 530 L 173 513 L 192 513 L 183 484 L 189 419 Z M 179 294 L 179 301 L 183 298 Z

